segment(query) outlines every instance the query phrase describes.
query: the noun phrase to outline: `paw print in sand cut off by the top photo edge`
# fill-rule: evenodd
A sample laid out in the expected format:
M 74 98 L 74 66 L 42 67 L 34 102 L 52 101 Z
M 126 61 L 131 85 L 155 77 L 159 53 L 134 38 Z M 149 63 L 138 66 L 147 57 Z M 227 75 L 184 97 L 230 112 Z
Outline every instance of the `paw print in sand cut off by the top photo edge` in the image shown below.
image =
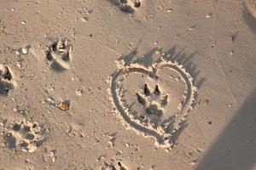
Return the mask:
M 142 0 L 119 0 L 119 8 L 125 13 L 133 13 L 142 6 Z

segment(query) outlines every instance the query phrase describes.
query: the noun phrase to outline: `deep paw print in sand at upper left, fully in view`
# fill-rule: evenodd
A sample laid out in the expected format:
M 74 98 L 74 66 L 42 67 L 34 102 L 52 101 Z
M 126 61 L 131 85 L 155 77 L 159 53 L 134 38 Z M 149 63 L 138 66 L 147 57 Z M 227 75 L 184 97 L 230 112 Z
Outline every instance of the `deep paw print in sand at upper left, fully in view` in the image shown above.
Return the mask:
M 73 56 L 73 47 L 67 38 L 61 38 L 59 41 L 50 44 L 49 47 L 46 48 L 45 55 L 53 70 L 69 70 Z

